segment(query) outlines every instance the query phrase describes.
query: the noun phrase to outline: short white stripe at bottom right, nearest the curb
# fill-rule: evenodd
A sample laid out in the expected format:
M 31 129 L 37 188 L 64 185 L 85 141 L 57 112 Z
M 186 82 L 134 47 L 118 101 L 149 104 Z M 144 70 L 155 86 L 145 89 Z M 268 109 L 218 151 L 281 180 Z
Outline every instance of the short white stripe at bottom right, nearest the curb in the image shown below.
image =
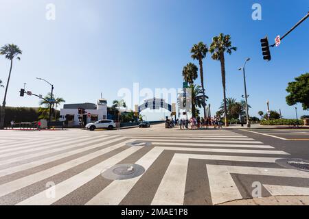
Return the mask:
M 309 196 L 309 188 L 286 185 L 263 185 L 272 196 Z

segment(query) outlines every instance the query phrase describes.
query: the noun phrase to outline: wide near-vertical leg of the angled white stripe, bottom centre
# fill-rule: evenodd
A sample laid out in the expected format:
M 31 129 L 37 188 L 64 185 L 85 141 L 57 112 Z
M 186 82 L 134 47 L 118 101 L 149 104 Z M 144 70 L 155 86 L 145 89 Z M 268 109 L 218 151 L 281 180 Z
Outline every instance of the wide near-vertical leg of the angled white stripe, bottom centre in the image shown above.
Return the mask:
M 151 205 L 183 205 L 188 162 L 185 157 L 172 158 Z

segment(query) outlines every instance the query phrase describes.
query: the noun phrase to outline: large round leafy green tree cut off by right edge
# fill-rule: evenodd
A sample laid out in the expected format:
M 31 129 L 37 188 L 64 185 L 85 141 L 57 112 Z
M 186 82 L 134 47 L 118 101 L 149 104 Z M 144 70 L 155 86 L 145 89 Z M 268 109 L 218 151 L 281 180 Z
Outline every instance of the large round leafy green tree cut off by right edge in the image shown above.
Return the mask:
M 304 110 L 309 110 L 309 73 L 295 78 L 295 81 L 288 83 L 286 96 L 288 105 L 301 103 Z

